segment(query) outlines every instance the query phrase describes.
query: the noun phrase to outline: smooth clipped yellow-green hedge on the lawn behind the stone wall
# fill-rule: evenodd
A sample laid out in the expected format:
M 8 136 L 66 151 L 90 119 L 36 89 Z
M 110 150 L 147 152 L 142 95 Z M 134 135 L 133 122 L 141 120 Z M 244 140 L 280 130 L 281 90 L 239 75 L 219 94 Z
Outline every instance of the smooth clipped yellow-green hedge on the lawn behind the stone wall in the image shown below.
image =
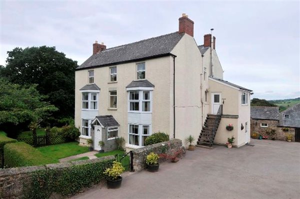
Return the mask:
M 15 142 L 4 145 L 4 165 L 6 167 L 41 165 L 52 162 L 52 158 L 43 155 L 27 143 Z

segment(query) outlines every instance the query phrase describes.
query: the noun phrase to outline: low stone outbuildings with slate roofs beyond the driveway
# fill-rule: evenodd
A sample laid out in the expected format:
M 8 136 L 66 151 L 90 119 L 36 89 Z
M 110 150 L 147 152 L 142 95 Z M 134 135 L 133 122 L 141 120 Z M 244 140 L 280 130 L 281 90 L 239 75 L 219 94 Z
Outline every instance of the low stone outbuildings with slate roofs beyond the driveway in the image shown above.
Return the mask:
M 286 133 L 291 133 L 293 141 L 300 141 L 300 103 L 282 112 L 278 107 L 252 106 L 251 132 L 263 134 L 268 127 L 275 129 L 276 139 L 286 140 Z

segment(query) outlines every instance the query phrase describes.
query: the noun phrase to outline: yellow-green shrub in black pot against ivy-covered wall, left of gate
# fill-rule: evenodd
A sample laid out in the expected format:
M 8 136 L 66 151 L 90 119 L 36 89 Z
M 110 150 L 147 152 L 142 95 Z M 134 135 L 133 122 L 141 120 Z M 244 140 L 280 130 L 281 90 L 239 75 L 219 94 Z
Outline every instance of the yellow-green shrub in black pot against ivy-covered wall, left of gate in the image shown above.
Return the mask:
M 106 168 L 103 172 L 106 175 L 107 188 L 118 188 L 122 183 L 122 176 L 120 174 L 124 172 L 124 167 L 120 162 L 113 161 L 112 166 Z

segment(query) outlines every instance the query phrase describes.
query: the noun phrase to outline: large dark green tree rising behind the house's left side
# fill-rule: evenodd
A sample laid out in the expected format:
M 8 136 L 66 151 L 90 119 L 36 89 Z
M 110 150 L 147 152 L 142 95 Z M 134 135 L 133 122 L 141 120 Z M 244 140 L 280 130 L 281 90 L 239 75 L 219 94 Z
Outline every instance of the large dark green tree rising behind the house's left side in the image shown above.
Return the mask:
M 59 109 L 53 114 L 56 119 L 74 116 L 76 61 L 47 46 L 16 47 L 7 54 L 0 76 L 21 85 L 37 84 L 36 89 Z

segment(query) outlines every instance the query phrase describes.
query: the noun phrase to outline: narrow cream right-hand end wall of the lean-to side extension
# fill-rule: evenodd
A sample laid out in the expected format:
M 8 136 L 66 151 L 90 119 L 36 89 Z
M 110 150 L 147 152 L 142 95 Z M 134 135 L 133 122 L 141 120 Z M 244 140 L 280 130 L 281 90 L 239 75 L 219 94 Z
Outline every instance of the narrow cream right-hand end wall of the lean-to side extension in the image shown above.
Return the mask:
M 246 136 L 247 141 L 250 142 L 250 94 L 249 92 L 246 92 L 248 95 L 248 104 L 241 104 L 241 95 L 244 91 L 238 92 L 238 146 L 244 145 L 246 142 Z M 247 133 L 245 133 L 245 122 L 247 122 Z M 240 126 L 243 124 L 244 128 L 241 130 Z

